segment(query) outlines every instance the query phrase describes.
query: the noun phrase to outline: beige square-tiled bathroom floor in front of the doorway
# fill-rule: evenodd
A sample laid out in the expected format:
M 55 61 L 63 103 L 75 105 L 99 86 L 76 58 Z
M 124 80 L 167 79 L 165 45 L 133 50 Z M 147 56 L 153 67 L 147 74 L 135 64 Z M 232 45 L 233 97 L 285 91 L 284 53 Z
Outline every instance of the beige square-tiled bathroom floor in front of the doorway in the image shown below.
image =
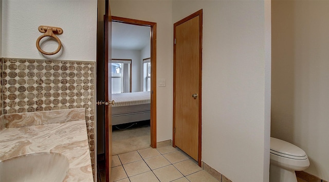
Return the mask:
M 99 178 L 105 181 L 105 170 L 99 166 Z M 147 148 L 114 155 L 111 181 L 218 181 L 196 161 L 172 146 Z

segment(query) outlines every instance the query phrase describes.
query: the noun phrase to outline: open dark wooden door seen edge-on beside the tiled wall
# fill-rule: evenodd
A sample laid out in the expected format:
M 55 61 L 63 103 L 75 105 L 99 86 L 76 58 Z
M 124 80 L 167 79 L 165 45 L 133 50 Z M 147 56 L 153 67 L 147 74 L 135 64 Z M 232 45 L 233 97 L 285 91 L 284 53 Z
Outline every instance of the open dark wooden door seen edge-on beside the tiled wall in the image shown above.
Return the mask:
M 98 1 L 98 22 L 97 22 L 97 149 L 104 152 L 106 181 L 110 181 L 112 164 L 112 117 L 111 106 L 111 13 L 108 0 Z M 111 69 L 110 69 L 111 70 Z M 105 101 L 104 101 L 105 100 Z M 102 158 L 102 157 L 101 157 Z M 98 160 L 97 160 L 98 161 Z M 97 169 L 97 166 L 95 167 Z M 98 171 L 95 171 L 97 176 Z M 97 180 L 97 177 L 95 177 Z

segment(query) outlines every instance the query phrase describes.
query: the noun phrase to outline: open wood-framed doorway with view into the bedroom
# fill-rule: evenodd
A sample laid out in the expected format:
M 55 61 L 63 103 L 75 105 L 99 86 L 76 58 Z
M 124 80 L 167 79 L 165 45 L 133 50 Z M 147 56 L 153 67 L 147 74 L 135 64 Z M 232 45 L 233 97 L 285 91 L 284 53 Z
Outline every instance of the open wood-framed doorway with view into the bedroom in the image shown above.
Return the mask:
M 119 91 L 120 93 L 112 94 L 113 100 L 119 102 L 121 99 L 131 97 L 134 99 L 134 101 L 131 100 L 132 102 L 139 103 L 143 96 L 148 95 L 150 102 L 141 101 L 140 105 L 134 106 L 123 106 L 122 103 L 118 103 L 117 107 L 113 107 L 113 155 L 150 146 L 156 148 L 156 23 L 112 16 L 112 26 L 112 59 L 116 59 L 115 63 L 113 62 L 116 68 L 113 67 L 112 72 L 119 73 L 121 67 L 118 65 L 121 62 L 122 65 L 129 64 L 127 59 L 131 59 L 130 73 L 122 73 L 122 75 L 130 75 L 130 88 L 126 89 L 130 91 L 123 91 L 124 88 L 121 87 L 123 90 Z M 139 32 L 138 37 L 131 37 L 134 34 L 133 30 Z M 121 38 L 116 39 L 116 32 L 119 32 Z M 138 41 L 143 42 L 139 40 L 140 37 L 148 37 L 149 46 L 137 44 Z M 127 38 L 131 40 L 128 41 Z M 119 44 L 116 45 L 116 42 Z M 132 48 L 134 45 L 139 48 Z M 127 46 L 131 48 L 126 48 Z M 129 51 L 129 49 L 134 51 Z M 139 56 L 134 58 L 138 52 Z M 122 66 L 122 71 L 124 71 L 124 66 Z M 112 79 L 114 78 L 119 80 L 118 77 Z M 125 80 L 122 77 L 120 79 L 123 82 Z M 112 85 L 112 88 L 118 88 L 118 86 Z M 127 135 L 131 135 L 132 140 L 127 139 Z M 145 135 L 148 135 L 146 136 L 148 144 L 145 143 Z M 120 137 L 124 139 L 120 140 Z M 125 144 L 131 147 L 125 147 Z

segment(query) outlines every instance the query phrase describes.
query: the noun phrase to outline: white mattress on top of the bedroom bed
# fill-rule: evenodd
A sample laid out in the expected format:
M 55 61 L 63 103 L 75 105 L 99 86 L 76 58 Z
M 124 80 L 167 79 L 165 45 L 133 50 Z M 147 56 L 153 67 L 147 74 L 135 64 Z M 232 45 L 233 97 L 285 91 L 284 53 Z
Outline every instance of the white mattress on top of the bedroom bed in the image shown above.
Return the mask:
M 112 100 L 115 102 L 112 107 L 150 104 L 150 98 L 150 92 L 115 93 L 112 94 Z

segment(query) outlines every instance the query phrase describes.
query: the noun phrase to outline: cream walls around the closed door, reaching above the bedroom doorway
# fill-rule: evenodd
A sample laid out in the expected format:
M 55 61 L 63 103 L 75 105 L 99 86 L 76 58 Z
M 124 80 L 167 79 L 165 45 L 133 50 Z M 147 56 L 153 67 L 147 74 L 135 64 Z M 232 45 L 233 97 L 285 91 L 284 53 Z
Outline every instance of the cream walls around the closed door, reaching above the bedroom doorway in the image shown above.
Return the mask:
M 172 139 L 173 23 L 204 9 L 203 160 L 233 181 L 268 180 L 270 34 L 265 37 L 264 27 L 270 25 L 264 2 L 110 4 L 114 16 L 157 23 L 157 78 L 167 80 L 157 87 L 157 141 Z M 268 7 L 266 13 L 269 21 Z

